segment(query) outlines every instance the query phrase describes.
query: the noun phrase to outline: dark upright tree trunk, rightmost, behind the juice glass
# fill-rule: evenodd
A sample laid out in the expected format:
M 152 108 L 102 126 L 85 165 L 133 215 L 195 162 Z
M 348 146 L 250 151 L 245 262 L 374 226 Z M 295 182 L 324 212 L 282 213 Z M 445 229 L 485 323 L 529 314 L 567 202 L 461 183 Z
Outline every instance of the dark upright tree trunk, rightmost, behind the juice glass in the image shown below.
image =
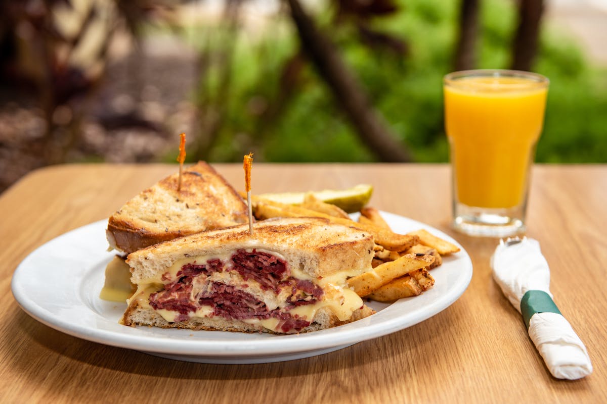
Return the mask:
M 512 68 L 531 70 L 537 53 L 540 21 L 544 12 L 543 0 L 520 0 L 518 28 L 512 45 Z

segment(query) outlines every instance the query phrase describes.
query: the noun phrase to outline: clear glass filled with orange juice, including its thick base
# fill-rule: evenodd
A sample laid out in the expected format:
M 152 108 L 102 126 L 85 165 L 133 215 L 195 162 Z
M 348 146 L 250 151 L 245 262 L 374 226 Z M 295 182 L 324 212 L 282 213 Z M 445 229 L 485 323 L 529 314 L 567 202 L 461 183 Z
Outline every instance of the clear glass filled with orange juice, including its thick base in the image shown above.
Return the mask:
M 492 237 L 526 230 L 529 174 L 548 84 L 544 76 L 515 70 L 444 77 L 456 230 Z

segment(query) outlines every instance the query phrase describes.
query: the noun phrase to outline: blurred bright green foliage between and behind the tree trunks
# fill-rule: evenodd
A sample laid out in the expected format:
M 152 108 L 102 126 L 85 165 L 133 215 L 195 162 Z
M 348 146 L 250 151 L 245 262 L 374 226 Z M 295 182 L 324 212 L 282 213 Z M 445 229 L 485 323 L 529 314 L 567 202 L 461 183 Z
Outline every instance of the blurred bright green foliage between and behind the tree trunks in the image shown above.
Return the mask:
M 478 68 L 507 68 L 516 26 L 514 3 L 491 0 L 481 4 Z M 456 7 L 458 2 L 449 0 L 404 0 L 399 13 L 372 21 L 378 30 L 407 41 L 407 56 L 362 45 L 353 27 L 331 23 L 330 11 L 317 16 L 393 133 L 418 162 L 449 159 L 442 78 L 452 70 Z M 257 150 L 257 157 L 273 162 L 376 160 L 309 64 L 276 117 L 268 119 L 258 113 L 259 105 L 272 104 L 284 90 L 280 82 L 283 66 L 298 47 L 288 21 L 262 40 L 239 36 L 223 106 L 225 120 L 208 159 L 239 161 L 243 146 L 249 146 Z M 551 79 L 537 161 L 607 162 L 606 71 L 591 67 L 571 38 L 546 26 L 534 70 Z M 219 82 L 217 75 L 207 74 L 197 91 L 212 102 Z

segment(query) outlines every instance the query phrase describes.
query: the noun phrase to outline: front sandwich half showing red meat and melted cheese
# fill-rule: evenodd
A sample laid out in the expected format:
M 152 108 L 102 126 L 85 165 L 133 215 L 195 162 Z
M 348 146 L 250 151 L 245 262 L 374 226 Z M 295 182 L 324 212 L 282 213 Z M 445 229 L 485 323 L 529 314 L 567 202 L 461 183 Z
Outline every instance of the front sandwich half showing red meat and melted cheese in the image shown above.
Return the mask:
M 318 217 L 181 237 L 129 255 L 137 291 L 121 323 L 283 334 L 352 322 L 373 310 L 346 279 L 373 254 L 371 234 Z

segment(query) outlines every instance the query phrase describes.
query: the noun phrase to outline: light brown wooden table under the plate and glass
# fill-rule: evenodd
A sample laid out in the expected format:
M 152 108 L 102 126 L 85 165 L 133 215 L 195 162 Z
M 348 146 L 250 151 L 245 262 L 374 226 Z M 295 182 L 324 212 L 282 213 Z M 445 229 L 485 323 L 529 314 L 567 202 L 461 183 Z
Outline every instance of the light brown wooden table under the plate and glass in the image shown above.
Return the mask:
M 217 164 L 237 189 L 242 165 Z M 42 243 L 108 217 L 176 170 L 171 165 L 63 165 L 35 171 L 0 197 L 2 402 L 607 402 L 607 166 L 534 168 L 528 236 L 541 241 L 561 312 L 594 373 L 552 378 L 520 314 L 493 282 L 497 241 L 450 230 L 447 165 L 254 164 L 253 190 L 375 185 L 371 205 L 455 237 L 473 261 L 452 306 L 388 336 L 333 353 L 260 365 L 178 362 L 87 342 L 29 317 L 10 293 L 18 263 Z

